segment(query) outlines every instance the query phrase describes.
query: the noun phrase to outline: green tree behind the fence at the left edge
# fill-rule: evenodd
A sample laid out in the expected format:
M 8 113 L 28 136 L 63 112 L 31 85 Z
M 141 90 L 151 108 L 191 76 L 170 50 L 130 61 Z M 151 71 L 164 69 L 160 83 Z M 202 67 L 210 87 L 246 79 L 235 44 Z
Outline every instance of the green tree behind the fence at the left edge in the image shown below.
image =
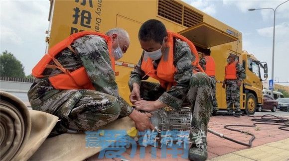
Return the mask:
M 7 50 L 0 54 L 0 76 L 25 78 L 23 65 Z

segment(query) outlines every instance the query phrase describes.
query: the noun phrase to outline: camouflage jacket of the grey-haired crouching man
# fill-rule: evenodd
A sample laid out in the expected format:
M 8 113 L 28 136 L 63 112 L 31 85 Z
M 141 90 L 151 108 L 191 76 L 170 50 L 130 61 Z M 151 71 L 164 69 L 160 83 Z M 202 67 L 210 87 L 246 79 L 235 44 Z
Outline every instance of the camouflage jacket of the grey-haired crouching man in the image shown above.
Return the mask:
M 126 115 L 129 115 L 133 109 L 119 96 L 115 72 L 112 69 L 108 46 L 105 40 L 100 36 L 86 35 L 75 40 L 71 46 L 76 50 L 77 54 L 66 48 L 55 57 L 60 64 L 70 72 L 82 66 L 85 67 L 87 75 L 95 89 L 118 98 L 122 102 L 122 108 L 125 108 L 125 111 L 127 111 Z M 53 61 L 49 64 L 55 65 Z M 47 77 L 34 80 L 28 92 L 31 104 L 40 104 L 40 102 L 62 91 L 54 89 L 48 80 L 48 76 L 57 74 L 61 74 L 61 71 L 58 69 L 45 69 L 43 75 Z M 69 95 L 71 94 L 68 94 L 67 97 Z M 49 113 L 53 114 L 55 111 L 53 110 Z

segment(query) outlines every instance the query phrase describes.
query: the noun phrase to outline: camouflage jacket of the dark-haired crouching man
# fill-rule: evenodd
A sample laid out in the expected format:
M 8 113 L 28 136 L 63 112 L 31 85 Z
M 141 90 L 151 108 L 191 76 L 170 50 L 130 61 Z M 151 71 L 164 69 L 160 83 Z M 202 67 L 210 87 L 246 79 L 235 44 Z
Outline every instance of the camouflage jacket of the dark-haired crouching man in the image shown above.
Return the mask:
M 168 52 L 166 49 L 165 52 Z M 132 89 L 133 83 L 141 85 L 141 80 L 147 80 L 148 76 L 145 76 L 144 71 L 141 69 L 141 65 L 144 58 L 144 52 L 141 59 L 136 65 L 133 72 L 131 72 L 129 85 Z M 158 100 L 171 107 L 178 108 L 182 105 L 185 96 L 189 89 L 189 81 L 192 76 L 192 64 L 195 60 L 195 56 L 191 53 L 191 50 L 186 42 L 176 39 L 174 46 L 174 59 L 173 65 L 176 68 L 174 74 L 174 80 L 177 82 L 175 86 L 172 86 L 168 91 L 164 92 Z M 156 69 L 159 60 L 153 61 L 153 66 Z M 144 77 L 145 76 L 145 77 Z M 143 78 L 144 77 L 144 78 Z

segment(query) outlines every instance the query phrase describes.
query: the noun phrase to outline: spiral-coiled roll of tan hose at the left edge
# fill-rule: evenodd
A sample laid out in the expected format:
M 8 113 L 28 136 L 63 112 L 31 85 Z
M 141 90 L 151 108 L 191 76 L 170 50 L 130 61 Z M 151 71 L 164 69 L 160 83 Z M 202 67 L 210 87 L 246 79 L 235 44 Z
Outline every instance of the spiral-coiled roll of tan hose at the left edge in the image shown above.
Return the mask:
M 26 105 L 14 95 L 0 91 L 0 160 L 12 160 L 23 148 L 31 131 Z

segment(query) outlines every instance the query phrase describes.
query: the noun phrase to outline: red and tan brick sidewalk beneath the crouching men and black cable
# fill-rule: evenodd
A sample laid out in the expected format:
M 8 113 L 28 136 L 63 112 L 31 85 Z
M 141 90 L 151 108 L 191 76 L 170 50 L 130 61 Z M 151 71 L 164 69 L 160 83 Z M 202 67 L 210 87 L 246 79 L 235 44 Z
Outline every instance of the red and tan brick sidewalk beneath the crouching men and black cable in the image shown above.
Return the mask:
M 255 116 L 255 118 L 260 118 Z M 242 116 L 240 118 L 232 116 L 213 116 L 209 122 L 209 128 L 224 134 L 227 137 L 239 140 L 243 143 L 248 143 L 251 139 L 250 135 L 242 134 L 235 131 L 230 131 L 224 128 L 224 125 L 253 125 L 256 123 L 251 121 L 252 117 Z M 277 125 L 257 125 L 257 127 L 231 127 L 245 132 L 250 132 L 256 136 L 252 147 L 246 147 L 226 139 L 219 138 L 211 133 L 208 133 L 208 160 L 209 161 L 252 161 L 252 160 L 289 160 L 289 131 L 278 129 Z M 268 144 L 269 143 L 269 144 Z M 263 145 L 263 146 L 260 146 Z M 255 148 L 253 148 L 255 147 Z M 129 161 L 187 161 L 187 159 L 172 158 L 167 155 L 166 158 L 161 158 L 160 149 L 156 150 L 156 156 L 151 155 L 151 147 L 146 147 L 145 157 L 140 157 L 140 147 L 138 146 L 137 153 L 134 158 L 130 158 L 131 149 L 127 149 L 123 156 Z M 226 155 L 228 154 L 228 155 Z M 153 158 L 152 158 L 153 156 Z M 221 156 L 221 157 L 219 157 Z M 98 154 L 89 158 L 88 161 L 96 161 Z M 121 161 L 121 159 L 102 159 L 100 161 Z

